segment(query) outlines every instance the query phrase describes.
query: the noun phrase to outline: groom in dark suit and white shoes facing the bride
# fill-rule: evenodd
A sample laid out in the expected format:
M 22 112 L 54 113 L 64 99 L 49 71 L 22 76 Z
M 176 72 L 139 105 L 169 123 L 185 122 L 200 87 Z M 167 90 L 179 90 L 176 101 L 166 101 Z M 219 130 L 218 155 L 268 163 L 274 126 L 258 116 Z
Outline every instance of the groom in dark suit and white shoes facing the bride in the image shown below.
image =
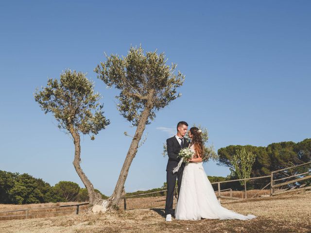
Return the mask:
M 166 193 L 166 203 L 165 203 L 165 215 L 166 221 L 172 221 L 173 214 L 173 195 L 175 189 L 175 183 L 177 178 L 178 194 L 181 185 L 181 179 L 183 176 L 183 171 L 185 163 L 176 173 L 173 173 L 174 167 L 178 165 L 180 158 L 178 158 L 178 153 L 182 148 L 188 147 L 189 142 L 184 138 L 188 130 L 188 124 L 185 121 L 180 121 L 177 124 L 177 134 L 166 140 L 167 153 L 169 155 L 169 161 L 166 166 L 166 183 L 167 183 L 167 193 Z

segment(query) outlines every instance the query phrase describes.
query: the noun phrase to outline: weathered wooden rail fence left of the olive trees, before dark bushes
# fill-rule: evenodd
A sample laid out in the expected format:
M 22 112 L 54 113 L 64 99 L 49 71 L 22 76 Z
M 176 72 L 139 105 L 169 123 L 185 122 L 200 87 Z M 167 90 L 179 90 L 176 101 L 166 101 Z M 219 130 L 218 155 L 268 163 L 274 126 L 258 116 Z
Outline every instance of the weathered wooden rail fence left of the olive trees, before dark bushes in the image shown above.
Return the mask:
M 33 208 L 33 209 L 23 209 L 23 210 L 12 210 L 12 211 L 3 211 L 0 212 L 1 214 L 4 213 L 17 213 L 17 212 L 24 212 L 23 214 L 20 215 L 4 215 L 4 216 L 0 216 L 0 220 L 1 218 L 8 218 L 8 217 L 23 217 L 23 218 L 29 218 L 31 216 L 35 216 L 35 215 L 42 215 L 42 214 L 60 214 L 60 213 L 70 213 L 70 212 L 75 212 L 76 215 L 79 214 L 79 212 L 82 211 L 87 211 L 87 210 L 80 210 L 80 206 L 81 205 L 88 205 L 89 202 L 85 202 L 85 203 L 80 203 L 80 204 L 73 204 L 73 205 L 60 205 L 60 206 L 53 206 L 53 207 L 44 207 L 44 208 Z M 32 213 L 33 211 L 38 211 L 38 210 L 48 210 L 48 209 L 56 209 L 56 208 L 65 208 L 65 207 L 76 207 L 75 210 L 70 210 L 70 211 L 55 211 L 55 212 L 39 212 L 39 213 Z

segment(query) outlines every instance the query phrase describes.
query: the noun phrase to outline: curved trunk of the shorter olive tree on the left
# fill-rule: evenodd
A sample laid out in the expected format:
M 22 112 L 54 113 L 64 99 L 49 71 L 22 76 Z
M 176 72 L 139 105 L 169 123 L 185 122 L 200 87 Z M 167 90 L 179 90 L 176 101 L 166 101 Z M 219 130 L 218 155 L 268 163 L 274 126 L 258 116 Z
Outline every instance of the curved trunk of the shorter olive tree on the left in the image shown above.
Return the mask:
M 73 143 L 74 143 L 74 160 L 72 162 L 74 168 L 76 169 L 76 172 L 78 173 L 81 181 L 86 186 L 86 190 L 89 197 L 89 210 L 92 208 L 93 205 L 95 205 L 100 199 L 102 199 L 102 196 L 99 193 L 96 193 L 93 187 L 93 184 L 87 179 L 86 174 L 83 172 L 80 162 L 81 162 L 81 148 L 80 148 L 80 135 L 79 133 L 76 133 L 73 127 L 70 127 L 70 133 L 73 137 Z

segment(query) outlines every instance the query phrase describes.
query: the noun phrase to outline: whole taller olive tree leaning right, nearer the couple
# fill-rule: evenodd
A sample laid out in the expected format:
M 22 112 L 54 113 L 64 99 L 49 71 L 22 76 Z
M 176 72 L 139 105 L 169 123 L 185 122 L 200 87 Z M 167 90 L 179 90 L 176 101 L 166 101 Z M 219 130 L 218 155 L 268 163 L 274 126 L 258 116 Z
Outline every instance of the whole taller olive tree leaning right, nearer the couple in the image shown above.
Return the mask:
M 101 62 L 94 71 L 108 87 L 120 90 L 116 97 L 119 100 L 117 108 L 136 127 L 118 182 L 107 202 L 107 209 L 112 210 L 118 208 L 124 195 L 124 183 L 146 124 L 155 118 L 157 110 L 181 96 L 176 88 L 183 84 L 185 76 L 176 71 L 176 64 L 166 64 L 164 53 L 144 53 L 141 46 L 131 47 L 125 57 L 105 56 L 106 61 Z

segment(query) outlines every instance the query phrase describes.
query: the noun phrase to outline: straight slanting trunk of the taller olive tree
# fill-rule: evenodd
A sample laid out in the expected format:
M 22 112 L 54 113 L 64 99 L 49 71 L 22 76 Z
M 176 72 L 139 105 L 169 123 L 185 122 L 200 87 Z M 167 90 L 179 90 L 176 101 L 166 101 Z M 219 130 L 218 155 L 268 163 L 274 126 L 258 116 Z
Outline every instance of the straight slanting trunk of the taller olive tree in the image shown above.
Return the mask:
M 127 151 L 118 182 L 116 184 L 116 187 L 111 195 L 111 197 L 108 199 L 108 205 L 107 210 L 117 210 L 119 209 L 118 205 L 120 201 L 122 200 L 123 196 L 125 195 L 124 192 L 124 184 L 128 175 L 129 168 L 132 164 L 132 161 L 137 153 L 138 150 L 138 144 L 141 139 L 141 136 L 146 128 L 146 123 L 148 121 L 148 117 L 150 115 L 150 111 L 153 107 L 152 100 L 153 100 L 153 91 L 151 91 L 148 95 L 148 100 L 145 105 L 145 108 L 143 112 L 140 115 L 138 126 L 135 132 L 135 135 L 132 139 L 131 145 L 129 150 Z

